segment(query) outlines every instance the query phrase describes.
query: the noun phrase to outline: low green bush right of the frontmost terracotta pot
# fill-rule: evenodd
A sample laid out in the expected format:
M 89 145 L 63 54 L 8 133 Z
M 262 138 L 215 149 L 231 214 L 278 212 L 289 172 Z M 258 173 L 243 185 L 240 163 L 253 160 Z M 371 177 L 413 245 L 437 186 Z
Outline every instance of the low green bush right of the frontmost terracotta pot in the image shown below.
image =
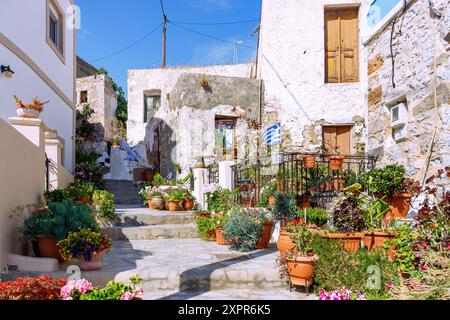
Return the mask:
M 344 250 L 342 242 L 322 237 L 314 238 L 312 248 L 319 256 L 314 267 L 317 293 L 346 287 L 352 291 L 362 291 L 367 297 L 381 298 L 388 294 L 387 285 L 397 281 L 397 268 L 383 250 L 350 253 Z M 377 279 L 378 268 L 380 282 L 371 282 L 371 271 L 375 270 L 373 279 Z M 367 284 L 375 287 L 371 289 Z

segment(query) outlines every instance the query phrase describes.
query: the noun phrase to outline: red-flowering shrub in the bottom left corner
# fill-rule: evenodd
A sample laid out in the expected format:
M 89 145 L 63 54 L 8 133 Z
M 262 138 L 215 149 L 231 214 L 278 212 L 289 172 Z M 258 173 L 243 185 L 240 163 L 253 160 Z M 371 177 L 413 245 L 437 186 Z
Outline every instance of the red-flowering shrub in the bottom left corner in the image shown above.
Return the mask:
M 17 278 L 0 282 L 0 300 L 61 300 L 60 291 L 65 285 L 65 279 L 55 280 L 47 275 Z

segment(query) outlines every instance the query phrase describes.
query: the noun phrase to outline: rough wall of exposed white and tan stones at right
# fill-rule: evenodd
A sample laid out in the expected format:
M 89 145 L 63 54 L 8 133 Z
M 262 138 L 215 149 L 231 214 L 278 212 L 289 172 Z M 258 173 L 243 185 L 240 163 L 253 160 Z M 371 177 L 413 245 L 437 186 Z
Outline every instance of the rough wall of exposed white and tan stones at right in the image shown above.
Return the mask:
M 427 0 L 417 0 L 396 20 L 394 62 L 392 21 L 366 46 L 368 149 L 379 155 L 380 164 L 403 164 L 409 175 L 419 179 L 450 164 L 450 46 L 445 40 L 450 30 L 450 6 L 448 0 L 432 3 L 437 16 L 431 16 Z M 395 101 L 406 101 L 408 109 L 406 137 L 397 142 L 392 136 L 389 111 Z M 433 152 L 426 173 L 430 147 Z

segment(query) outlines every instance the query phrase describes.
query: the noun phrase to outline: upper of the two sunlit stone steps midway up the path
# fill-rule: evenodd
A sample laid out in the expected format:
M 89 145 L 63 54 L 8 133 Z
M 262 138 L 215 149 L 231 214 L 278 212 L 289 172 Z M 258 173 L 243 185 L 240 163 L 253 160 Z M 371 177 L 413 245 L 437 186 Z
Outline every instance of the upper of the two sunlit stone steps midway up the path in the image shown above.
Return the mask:
M 125 212 L 125 213 L 124 213 Z M 136 208 L 133 210 L 116 210 L 119 215 L 117 226 L 138 227 L 167 224 L 189 224 L 194 222 L 192 212 L 187 211 L 157 211 L 146 208 Z

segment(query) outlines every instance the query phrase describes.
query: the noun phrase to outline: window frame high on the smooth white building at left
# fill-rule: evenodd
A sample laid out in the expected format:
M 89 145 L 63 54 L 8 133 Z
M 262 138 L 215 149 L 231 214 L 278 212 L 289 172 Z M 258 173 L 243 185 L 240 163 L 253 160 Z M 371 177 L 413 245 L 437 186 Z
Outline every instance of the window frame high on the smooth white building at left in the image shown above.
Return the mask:
M 56 0 L 47 0 L 46 7 L 46 41 L 56 56 L 63 64 L 66 64 L 65 44 L 66 44 L 66 28 L 65 28 L 65 14 Z M 56 20 L 56 36 L 57 43 L 50 37 L 50 17 Z

